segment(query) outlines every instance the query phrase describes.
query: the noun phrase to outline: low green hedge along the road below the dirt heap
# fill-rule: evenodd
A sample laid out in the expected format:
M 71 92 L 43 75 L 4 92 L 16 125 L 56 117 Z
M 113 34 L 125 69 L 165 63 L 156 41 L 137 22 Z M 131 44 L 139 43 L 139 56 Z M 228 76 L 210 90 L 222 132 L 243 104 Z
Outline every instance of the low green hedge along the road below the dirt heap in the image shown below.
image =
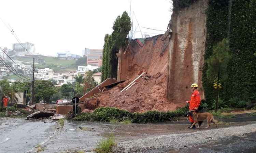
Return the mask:
M 153 123 L 171 121 L 179 117 L 185 117 L 188 107 L 179 108 L 172 112 L 148 111 L 145 113 L 130 113 L 115 107 L 100 107 L 93 113 L 81 113 L 75 117 L 79 121 L 104 121 L 110 122 L 111 119 L 123 121 L 130 119 L 132 123 Z

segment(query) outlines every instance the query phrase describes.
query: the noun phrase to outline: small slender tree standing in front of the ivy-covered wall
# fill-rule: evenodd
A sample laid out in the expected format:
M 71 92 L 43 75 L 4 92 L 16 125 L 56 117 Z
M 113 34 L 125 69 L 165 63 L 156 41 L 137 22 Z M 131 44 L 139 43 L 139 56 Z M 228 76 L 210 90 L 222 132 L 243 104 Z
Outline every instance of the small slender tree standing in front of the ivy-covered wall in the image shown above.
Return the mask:
M 217 90 L 216 111 L 218 108 L 219 90 L 222 88 L 220 81 L 224 82 L 227 79 L 227 67 L 231 57 L 229 40 L 223 39 L 213 46 L 213 54 L 206 61 L 208 64 L 207 78 L 213 80 L 214 88 Z

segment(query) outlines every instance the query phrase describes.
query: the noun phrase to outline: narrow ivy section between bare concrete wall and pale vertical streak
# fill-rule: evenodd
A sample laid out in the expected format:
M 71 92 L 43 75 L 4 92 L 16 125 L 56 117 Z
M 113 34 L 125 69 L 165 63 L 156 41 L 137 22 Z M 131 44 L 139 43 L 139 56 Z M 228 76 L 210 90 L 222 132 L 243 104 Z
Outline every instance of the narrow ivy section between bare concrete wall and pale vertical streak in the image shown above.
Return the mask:
M 207 63 L 206 60 L 212 55 L 213 46 L 219 41 L 227 38 L 227 21 L 228 21 L 228 4 L 229 0 L 210 0 L 208 4 L 207 13 L 207 37 L 206 48 L 204 54 L 204 67 L 202 74 L 203 90 L 205 99 L 211 101 L 216 99 L 217 92 L 213 88 L 213 81 L 209 80 L 206 76 Z M 225 89 L 225 83 L 222 82 Z M 220 96 L 223 96 L 223 90 L 220 92 Z

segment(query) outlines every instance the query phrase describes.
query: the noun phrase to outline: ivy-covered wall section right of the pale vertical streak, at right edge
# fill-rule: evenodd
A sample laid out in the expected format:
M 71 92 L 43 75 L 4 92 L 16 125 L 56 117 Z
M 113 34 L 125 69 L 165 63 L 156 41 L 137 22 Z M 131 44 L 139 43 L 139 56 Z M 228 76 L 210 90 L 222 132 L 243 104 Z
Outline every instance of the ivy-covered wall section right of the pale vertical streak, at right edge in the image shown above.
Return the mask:
M 226 97 L 246 100 L 256 93 L 256 0 L 232 0 Z

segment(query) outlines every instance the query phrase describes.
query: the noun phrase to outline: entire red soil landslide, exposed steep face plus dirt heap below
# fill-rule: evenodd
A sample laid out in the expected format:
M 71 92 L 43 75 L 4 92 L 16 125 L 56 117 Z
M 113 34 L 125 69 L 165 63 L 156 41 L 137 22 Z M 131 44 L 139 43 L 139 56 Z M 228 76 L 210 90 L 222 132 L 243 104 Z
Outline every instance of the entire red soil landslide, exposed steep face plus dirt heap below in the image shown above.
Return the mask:
M 143 47 L 140 47 L 136 41 L 132 41 L 127 51 L 122 51 L 119 63 L 119 78 L 126 81 L 99 93 L 94 98 L 87 99 L 85 107 L 87 105 L 87 109 L 101 106 L 117 107 L 130 112 L 145 112 L 171 111 L 184 106 L 185 104 L 174 104 L 167 100 L 169 48 L 167 47 L 160 56 L 163 44 L 160 40 L 161 36 L 145 39 Z M 132 87 L 120 92 L 142 72 L 145 74 Z

